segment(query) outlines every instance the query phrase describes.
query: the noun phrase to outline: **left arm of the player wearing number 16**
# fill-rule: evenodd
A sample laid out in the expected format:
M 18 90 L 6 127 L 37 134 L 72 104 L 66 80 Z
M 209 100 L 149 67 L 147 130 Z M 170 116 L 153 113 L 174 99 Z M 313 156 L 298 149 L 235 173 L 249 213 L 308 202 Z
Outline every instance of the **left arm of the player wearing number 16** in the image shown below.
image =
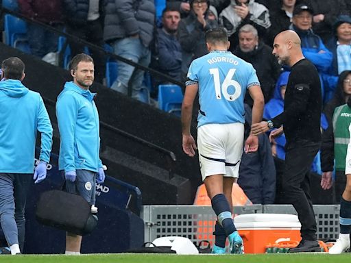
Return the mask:
M 182 147 L 184 153 L 191 157 L 195 155 L 195 149 L 197 149 L 195 140 L 190 133 L 190 127 L 194 100 L 198 89 L 197 82 L 186 82 L 186 89 L 182 103 Z

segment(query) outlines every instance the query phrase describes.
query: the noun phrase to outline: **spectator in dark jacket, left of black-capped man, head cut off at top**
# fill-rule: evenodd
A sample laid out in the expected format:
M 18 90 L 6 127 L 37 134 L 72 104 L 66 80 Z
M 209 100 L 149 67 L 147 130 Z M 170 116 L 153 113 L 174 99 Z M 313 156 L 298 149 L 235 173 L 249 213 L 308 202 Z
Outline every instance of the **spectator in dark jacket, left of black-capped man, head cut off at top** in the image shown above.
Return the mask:
M 271 27 L 266 34 L 266 43 L 271 47 L 273 40 L 280 32 L 289 29 L 293 20 L 293 8 L 296 0 L 279 0 L 279 8 L 269 10 L 271 19 Z

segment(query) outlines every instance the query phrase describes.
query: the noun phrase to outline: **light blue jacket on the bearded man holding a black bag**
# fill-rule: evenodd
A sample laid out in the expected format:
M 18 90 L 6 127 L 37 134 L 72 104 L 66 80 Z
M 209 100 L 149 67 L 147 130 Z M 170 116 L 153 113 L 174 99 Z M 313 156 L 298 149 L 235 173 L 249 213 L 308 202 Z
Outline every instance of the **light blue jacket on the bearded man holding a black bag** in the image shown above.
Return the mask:
M 84 169 L 97 172 L 102 167 L 99 158 L 99 114 L 95 93 L 84 90 L 73 82 L 66 82 L 58 95 L 56 116 L 60 130 L 60 170 Z

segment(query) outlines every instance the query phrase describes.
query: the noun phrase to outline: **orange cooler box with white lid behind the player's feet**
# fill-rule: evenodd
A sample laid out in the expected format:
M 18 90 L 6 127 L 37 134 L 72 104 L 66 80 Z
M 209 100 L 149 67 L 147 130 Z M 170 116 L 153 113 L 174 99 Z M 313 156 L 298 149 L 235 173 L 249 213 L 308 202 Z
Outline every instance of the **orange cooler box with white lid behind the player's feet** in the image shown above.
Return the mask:
M 269 244 L 301 240 L 301 224 L 293 214 L 241 214 L 234 217 L 234 223 L 245 253 L 265 253 Z

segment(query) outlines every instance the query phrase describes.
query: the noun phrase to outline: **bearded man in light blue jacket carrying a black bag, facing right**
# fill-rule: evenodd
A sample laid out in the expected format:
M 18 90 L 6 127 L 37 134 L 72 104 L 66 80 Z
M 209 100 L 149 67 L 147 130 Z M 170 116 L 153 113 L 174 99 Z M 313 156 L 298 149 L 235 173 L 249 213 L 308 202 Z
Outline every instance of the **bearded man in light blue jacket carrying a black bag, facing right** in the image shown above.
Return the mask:
M 105 173 L 99 158 L 99 114 L 95 94 L 89 88 L 94 81 L 94 61 L 78 54 L 70 62 L 73 82 L 66 82 L 58 96 L 56 116 L 60 130 L 59 169 L 66 179 L 66 191 L 81 195 L 95 208 L 95 188 L 104 183 Z M 82 236 L 66 234 L 66 254 L 79 255 Z

